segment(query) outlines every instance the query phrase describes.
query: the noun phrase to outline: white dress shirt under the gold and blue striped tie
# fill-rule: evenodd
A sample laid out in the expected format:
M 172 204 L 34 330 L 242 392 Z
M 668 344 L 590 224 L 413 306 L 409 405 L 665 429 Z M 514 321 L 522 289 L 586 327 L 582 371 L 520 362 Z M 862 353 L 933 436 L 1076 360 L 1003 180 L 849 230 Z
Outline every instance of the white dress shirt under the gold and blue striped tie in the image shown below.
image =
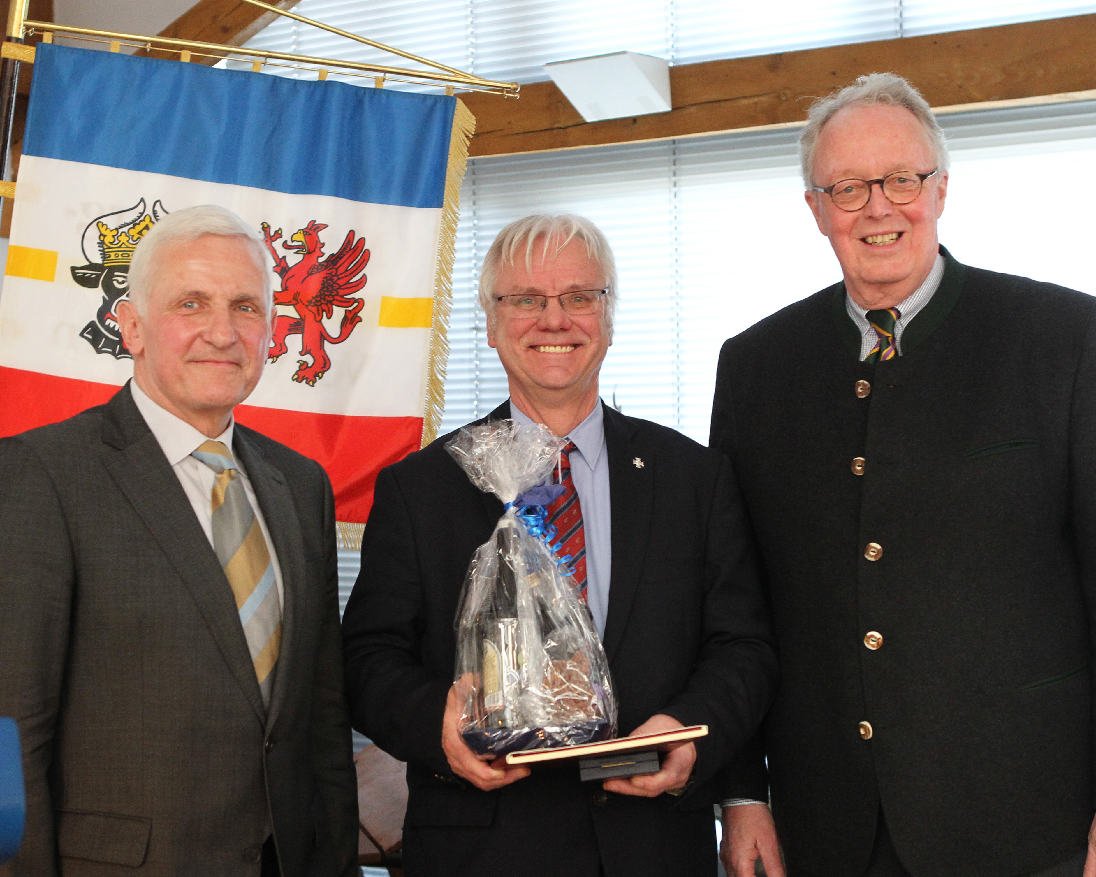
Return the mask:
M 160 444 L 160 449 L 168 458 L 172 471 L 183 486 L 186 499 L 191 501 L 194 514 L 197 515 L 198 523 L 213 545 L 213 486 L 217 479 L 216 472 L 202 463 L 197 457 L 192 457 L 191 453 L 197 451 L 202 443 L 208 440 L 194 429 L 185 420 L 180 420 L 170 411 L 148 398 L 148 395 L 137 386 L 137 380 L 129 381 L 129 391 L 133 394 L 137 410 L 145 418 L 145 422 Z M 236 460 L 236 471 L 243 482 L 243 490 L 248 494 L 248 502 L 255 511 L 259 519 L 259 526 L 266 539 L 266 550 L 270 551 L 271 562 L 274 565 L 274 583 L 277 585 L 277 599 L 282 606 L 285 606 L 285 594 L 282 590 L 282 568 L 277 562 L 277 554 L 274 550 L 274 543 L 271 542 L 270 531 L 266 528 L 266 521 L 263 519 L 262 509 L 255 500 L 255 491 L 251 487 L 251 480 L 243 470 L 243 464 L 232 448 L 232 432 L 236 429 L 236 421 L 229 420 L 228 429 L 218 435 L 214 441 L 222 442 L 232 452 Z

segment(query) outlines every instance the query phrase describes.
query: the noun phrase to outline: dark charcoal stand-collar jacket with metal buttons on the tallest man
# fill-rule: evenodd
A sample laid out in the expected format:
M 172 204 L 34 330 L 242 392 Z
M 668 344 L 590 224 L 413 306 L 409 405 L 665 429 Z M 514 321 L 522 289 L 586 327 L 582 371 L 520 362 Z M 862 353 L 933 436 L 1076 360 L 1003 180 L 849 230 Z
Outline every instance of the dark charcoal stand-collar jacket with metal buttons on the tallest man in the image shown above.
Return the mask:
M 720 356 L 781 660 L 728 794 L 764 799 L 767 755 L 820 877 L 863 872 L 880 805 L 915 877 L 1050 866 L 1093 816 L 1096 299 L 945 255 L 900 357 L 858 361 L 842 284 Z

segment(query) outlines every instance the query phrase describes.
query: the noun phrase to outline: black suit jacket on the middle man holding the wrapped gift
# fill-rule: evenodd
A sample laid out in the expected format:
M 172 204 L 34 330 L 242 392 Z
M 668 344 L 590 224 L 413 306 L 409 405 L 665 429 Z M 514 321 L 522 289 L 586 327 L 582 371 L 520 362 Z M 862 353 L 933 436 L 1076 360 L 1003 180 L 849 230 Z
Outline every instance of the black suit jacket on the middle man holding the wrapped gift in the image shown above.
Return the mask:
M 491 419 L 509 413 L 504 403 Z M 715 874 L 711 781 L 754 732 L 776 680 L 730 466 L 673 430 L 605 409 L 613 567 L 604 642 L 620 733 L 658 713 L 707 724 L 690 791 L 597 804 L 571 767 L 484 793 L 449 771 L 442 715 L 468 561 L 503 508 L 449 457 L 448 438 L 380 472 L 343 616 L 354 727 L 408 762 L 407 874 L 596 877 L 602 864 L 608 877 Z

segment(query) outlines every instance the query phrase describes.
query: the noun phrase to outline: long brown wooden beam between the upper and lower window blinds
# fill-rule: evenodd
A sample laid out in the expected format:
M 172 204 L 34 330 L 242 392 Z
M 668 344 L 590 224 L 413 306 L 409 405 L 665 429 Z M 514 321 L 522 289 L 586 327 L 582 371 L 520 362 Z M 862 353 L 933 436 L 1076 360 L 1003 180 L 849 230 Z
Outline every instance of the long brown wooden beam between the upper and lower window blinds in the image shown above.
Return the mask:
M 802 124 L 811 99 L 890 70 L 934 107 L 1096 89 L 1096 15 L 689 64 L 670 70 L 667 113 L 583 122 L 553 82 L 517 101 L 461 94 L 476 116 L 469 155 L 499 156 Z

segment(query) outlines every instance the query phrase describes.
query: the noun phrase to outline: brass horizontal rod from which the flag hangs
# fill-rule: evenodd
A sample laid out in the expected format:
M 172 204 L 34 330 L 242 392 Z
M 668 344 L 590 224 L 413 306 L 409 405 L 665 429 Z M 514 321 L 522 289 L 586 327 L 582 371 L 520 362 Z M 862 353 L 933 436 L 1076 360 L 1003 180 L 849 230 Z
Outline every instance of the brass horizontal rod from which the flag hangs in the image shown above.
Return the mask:
M 203 43 L 197 39 L 182 39 L 170 36 L 145 36 L 141 34 L 127 34 L 119 31 L 100 31 L 92 27 L 77 27 L 68 24 L 56 24 L 48 21 L 24 20 L 23 35 L 31 32 L 72 34 L 106 39 L 110 42 L 127 43 L 147 49 L 197 49 L 198 54 L 210 57 L 229 58 L 232 55 L 242 55 L 248 58 L 274 59 L 282 61 L 294 61 L 298 65 L 313 65 L 317 71 L 320 68 L 343 68 L 347 70 L 359 70 L 369 73 L 380 73 L 384 77 L 395 77 L 400 81 L 419 82 L 429 80 L 431 84 L 449 84 L 457 89 L 469 91 L 486 91 L 494 94 L 502 94 L 505 98 L 517 98 L 521 86 L 516 82 L 498 82 L 491 79 L 482 79 L 459 71 L 435 72 L 433 70 L 410 70 L 402 67 L 388 67 L 379 64 L 364 64 L 362 61 L 338 60 L 335 58 L 317 58 L 310 55 L 290 55 L 284 52 L 266 52 L 262 49 L 246 48 L 244 46 L 226 46 L 220 43 Z M 379 44 L 378 44 L 379 45 Z

